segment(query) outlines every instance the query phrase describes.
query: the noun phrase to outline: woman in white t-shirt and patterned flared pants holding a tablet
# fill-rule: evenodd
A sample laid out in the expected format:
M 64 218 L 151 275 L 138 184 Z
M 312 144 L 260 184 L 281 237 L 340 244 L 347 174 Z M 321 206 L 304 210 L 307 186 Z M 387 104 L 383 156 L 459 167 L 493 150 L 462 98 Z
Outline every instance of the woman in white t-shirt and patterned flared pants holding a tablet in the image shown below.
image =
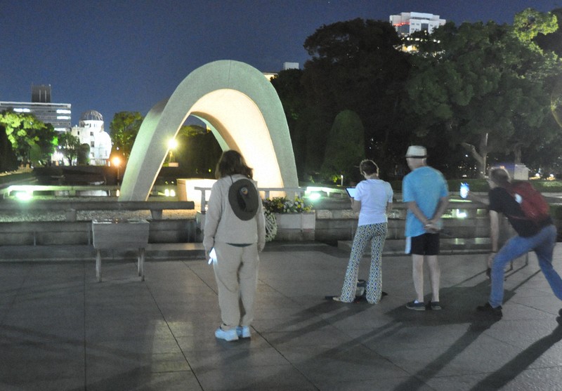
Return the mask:
M 374 161 L 361 161 L 359 170 L 365 180 L 358 183 L 355 197 L 351 198 L 351 208 L 355 213 L 359 212 L 357 232 L 353 237 L 341 296 L 333 299 L 343 303 L 355 300 L 359 263 L 365 246 L 370 241 L 371 267 L 365 293 L 370 304 L 377 304 L 382 295 L 381 256 L 387 232 L 386 216 L 392 210 L 393 191 L 390 183 L 379 179 L 379 167 Z

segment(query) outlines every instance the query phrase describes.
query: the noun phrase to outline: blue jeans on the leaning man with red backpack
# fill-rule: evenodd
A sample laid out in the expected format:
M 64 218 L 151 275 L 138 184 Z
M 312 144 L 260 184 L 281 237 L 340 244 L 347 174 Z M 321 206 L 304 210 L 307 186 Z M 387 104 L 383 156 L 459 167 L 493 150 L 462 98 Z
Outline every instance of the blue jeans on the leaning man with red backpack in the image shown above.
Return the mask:
M 549 281 L 554 295 L 562 300 L 562 279 L 552 267 L 552 253 L 555 245 L 556 227 L 554 225 L 542 228 L 539 233 L 532 237 L 515 236 L 509 239 L 496 254 L 492 263 L 490 305 L 495 308 L 503 303 L 505 265 L 531 250 L 537 254 L 540 269 Z

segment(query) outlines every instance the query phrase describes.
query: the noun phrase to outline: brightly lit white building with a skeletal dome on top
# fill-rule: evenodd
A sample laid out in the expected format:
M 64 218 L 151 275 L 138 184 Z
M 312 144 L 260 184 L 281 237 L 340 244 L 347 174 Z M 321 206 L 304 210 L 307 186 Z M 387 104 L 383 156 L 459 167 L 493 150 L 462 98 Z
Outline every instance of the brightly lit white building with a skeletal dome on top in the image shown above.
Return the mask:
M 72 135 L 80 139 L 80 144 L 90 146 L 90 164 L 106 166 L 110 158 L 111 138 L 104 131 L 103 117 L 96 110 L 82 113 L 79 126 L 73 126 Z

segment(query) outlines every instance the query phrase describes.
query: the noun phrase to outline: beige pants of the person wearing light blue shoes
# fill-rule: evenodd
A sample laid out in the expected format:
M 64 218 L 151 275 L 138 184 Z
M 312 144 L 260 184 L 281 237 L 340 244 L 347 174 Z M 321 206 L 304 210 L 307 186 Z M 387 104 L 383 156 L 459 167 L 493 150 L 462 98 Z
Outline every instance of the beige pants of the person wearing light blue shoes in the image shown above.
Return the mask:
M 237 247 L 215 242 L 214 271 L 223 330 L 249 326 L 254 320 L 258 284 L 258 245 Z

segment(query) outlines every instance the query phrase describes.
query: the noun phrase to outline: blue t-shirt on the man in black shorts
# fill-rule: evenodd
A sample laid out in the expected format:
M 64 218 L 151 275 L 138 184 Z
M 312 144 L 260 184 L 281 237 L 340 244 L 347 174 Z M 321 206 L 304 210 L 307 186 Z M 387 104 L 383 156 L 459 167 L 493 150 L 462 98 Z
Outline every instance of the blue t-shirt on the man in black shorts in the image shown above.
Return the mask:
M 403 201 L 415 201 L 426 218 L 435 214 L 439 200 L 449 195 L 447 181 L 435 168 L 421 166 L 407 174 L 402 181 Z M 440 223 L 439 223 L 440 224 Z M 406 237 L 417 237 L 426 233 L 424 223 L 410 210 L 406 213 Z

